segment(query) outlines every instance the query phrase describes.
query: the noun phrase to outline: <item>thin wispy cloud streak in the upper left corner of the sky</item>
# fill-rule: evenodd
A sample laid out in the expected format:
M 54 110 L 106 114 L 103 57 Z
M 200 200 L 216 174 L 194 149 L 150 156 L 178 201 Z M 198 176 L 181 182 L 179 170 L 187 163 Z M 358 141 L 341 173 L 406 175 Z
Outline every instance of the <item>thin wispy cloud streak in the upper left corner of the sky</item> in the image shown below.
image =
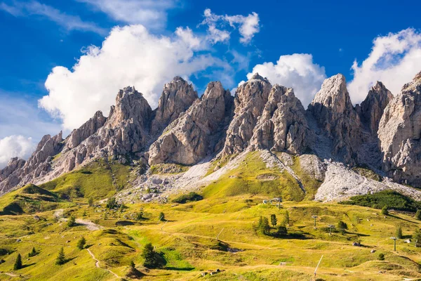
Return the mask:
M 65 27 L 66 30 L 81 30 L 87 32 L 95 32 L 98 34 L 106 34 L 107 31 L 98 27 L 93 22 L 85 22 L 77 15 L 67 15 L 60 10 L 51 6 L 41 4 L 38 1 L 13 1 L 13 4 L 8 5 L 5 3 L 0 4 L 0 10 L 6 11 L 15 17 L 41 15 L 48 20 L 51 20 L 58 25 Z

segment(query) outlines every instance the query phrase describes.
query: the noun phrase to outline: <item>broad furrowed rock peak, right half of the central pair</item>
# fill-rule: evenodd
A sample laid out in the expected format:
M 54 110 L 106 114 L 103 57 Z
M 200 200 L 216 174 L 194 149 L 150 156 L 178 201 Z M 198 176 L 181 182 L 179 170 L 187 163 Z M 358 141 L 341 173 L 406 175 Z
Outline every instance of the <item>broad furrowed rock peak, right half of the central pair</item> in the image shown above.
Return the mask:
M 253 129 L 250 148 L 300 153 L 307 149 L 309 135 L 305 109 L 293 89 L 274 85 Z

